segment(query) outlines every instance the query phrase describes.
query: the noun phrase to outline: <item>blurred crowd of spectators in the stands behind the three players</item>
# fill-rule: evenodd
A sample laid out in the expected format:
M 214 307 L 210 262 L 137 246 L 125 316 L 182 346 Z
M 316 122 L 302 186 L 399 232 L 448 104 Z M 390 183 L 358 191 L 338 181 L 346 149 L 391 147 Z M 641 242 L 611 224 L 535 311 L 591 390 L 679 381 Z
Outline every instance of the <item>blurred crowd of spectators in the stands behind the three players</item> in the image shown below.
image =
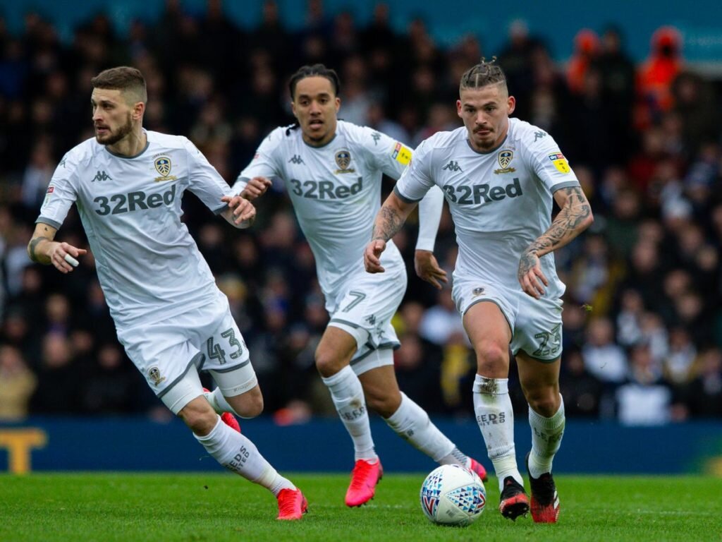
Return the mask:
M 300 33 L 284 28 L 278 9 L 266 1 L 249 31 L 225 17 L 219 0 L 199 13 L 169 0 L 155 23 L 135 20 L 125 35 L 97 14 L 71 43 L 38 14 L 27 14 L 18 35 L 0 19 L 0 419 L 163 416 L 116 340 L 92 254 L 61 275 L 25 251 L 56 165 L 92 137 L 97 72 L 141 69 L 144 126 L 186 135 L 232 184 L 261 139 L 292 121 L 286 82 L 298 66 L 323 62 L 339 72 L 341 118 L 417 145 L 461 126 L 458 81 L 482 56 L 496 56 L 505 70 L 515 116 L 560 144 L 596 218 L 555 253 L 567 284 L 567 416 L 722 418 L 721 82 L 687 66 L 677 30 L 659 28 L 648 59 L 635 64 L 617 28 L 583 29 L 562 64 L 521 20 L 503 50 L 484 51 L 474 35 L 441 47 L 420 18 L 396 33 L 383 3 L 361 27 L 351 12 L 327 13 L 310 0 Z M 385 179 L 384 191 L 392 187 Z M 192 194 L 183 206 L 251 350 L 266 413 L 278 423 L 335 416 L 313 364 L 328 315 L 287 197 L 259 199 L 249 231 L 214 218 Z M 58 238 L 85 246 L 77 212 Z M 414 275 L 415 239 L 413 220 L 395 238 L 409 267 L 394 319 L 399 384 L 432 414 L 473 416 L 474 356 L 451 289 L 437 292 Z M 451 272 L 447 212 L 436 247 Z M 510 389 L 526 416 L 518 384 Z

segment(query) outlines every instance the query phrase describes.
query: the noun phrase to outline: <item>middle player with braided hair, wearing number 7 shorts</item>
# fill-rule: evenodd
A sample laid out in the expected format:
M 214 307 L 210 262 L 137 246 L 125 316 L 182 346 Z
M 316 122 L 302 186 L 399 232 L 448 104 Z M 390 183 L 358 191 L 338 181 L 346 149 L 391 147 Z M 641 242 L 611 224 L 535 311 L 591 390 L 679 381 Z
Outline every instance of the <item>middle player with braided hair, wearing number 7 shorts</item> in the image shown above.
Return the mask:
M 373 129 L 336 119 L 341 100 L 336 72 L 323 64 L 303 66 L 290 79 L 297 123 L 274 129 L 240 173 L 234 189 L 253 199 L 272 178 L 284 181 L 301 229 L 316 257 L 316 271 L 331 315 L 316 350 L 316 367 L 351 436 L 355 466 L 346 494 L 349 507 L 373 498 L 383 474 L 374 449 L 367 406 L 414 447 L 440 464 L 486 470 L 464 455 L 414 401 L 399 391 L 393 348 L 399 346 L 391 317 L 406 291 L 406 270 L 390 241 L 388 273 L 369 275 L 362 254 L 380 207 L 381 176 L 399 178 L 411 150 Z M 430 192 L 421 215 L 419 276 L 440 287 L 443 271 L 433 257 L 443 196 Z M 238 212 L 238 210 L 236 211 Z M 433 231 L 426 231 L 430 224 Z

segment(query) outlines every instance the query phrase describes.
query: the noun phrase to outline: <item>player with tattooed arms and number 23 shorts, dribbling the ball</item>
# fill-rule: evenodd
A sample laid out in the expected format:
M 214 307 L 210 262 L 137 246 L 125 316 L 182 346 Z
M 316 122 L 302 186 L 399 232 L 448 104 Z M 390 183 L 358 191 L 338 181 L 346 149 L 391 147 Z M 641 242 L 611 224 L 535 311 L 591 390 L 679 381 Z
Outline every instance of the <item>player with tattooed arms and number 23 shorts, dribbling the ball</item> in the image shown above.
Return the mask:
M 464 126 L 425 139 L 376 216 L 364 251 L 366 270 L 383 272 L 380 256 L 414 205 L 437 185 L 456 225 L 459 252 L 453 299 L 477 356 L 474 410 L 499 478 L 502 515 L 529 511 L 517 468 L 509 354 L 529 403 L 526 456 L 535 522 L 556 522 L 559 499 L 552 460 L 564 433 L 559 393 L 562 300 L 552 251 L 593 221 L 591 207 L 552 136 L 510 119 L 515 100 L 505 75 L 482 60 L 461 77 Z M 551 220 L 552 198 L 560 212 Z

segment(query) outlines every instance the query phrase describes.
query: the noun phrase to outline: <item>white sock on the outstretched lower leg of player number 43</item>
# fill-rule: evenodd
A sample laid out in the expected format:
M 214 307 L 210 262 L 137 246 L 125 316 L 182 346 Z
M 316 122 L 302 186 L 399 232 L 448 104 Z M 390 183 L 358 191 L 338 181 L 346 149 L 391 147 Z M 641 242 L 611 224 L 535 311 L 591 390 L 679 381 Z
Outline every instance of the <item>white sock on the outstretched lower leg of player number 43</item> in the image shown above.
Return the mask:
M 282 489 L 296 489 L 290 480 L 271 467 L 264 456 L 243 434 L 230 429 L 218 418 L 216 426 L 206 436 L 194 435 L 206 451 L 231 472 L 258 483 L 278 495 Z

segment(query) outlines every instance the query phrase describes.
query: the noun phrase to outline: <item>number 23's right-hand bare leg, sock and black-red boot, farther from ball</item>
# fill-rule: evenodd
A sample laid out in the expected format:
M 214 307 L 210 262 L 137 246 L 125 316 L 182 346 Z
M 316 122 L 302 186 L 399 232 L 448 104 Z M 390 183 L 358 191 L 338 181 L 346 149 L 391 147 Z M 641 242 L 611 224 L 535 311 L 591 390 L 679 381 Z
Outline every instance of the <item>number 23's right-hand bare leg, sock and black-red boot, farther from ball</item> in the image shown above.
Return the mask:
M 531 486 L 531 517 L 555 523 L 560 504 L 552 476 L 552 461 L 564 435 L 564 401 L 559 392 L 560 358 L 540 361 L 523 352 L 516 355 L 521 387 L 529 403 L 531 452 L 526 455 Z

